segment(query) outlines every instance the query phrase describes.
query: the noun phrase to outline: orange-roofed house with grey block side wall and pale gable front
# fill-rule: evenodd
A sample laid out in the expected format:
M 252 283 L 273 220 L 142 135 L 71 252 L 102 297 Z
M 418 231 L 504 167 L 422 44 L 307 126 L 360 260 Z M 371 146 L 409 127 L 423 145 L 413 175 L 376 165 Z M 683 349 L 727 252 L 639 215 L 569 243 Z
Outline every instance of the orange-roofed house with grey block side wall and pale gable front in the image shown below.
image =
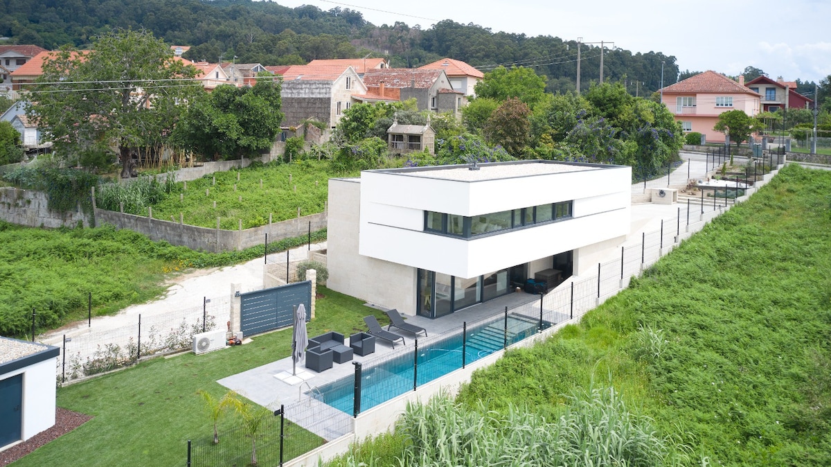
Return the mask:
M 280 110 L 283 128 L 313 118 L 334 128 L 352 106 L 353 95 L 366 94 L 366 86 L 352 66 L 293 65 L 283 71 Z

